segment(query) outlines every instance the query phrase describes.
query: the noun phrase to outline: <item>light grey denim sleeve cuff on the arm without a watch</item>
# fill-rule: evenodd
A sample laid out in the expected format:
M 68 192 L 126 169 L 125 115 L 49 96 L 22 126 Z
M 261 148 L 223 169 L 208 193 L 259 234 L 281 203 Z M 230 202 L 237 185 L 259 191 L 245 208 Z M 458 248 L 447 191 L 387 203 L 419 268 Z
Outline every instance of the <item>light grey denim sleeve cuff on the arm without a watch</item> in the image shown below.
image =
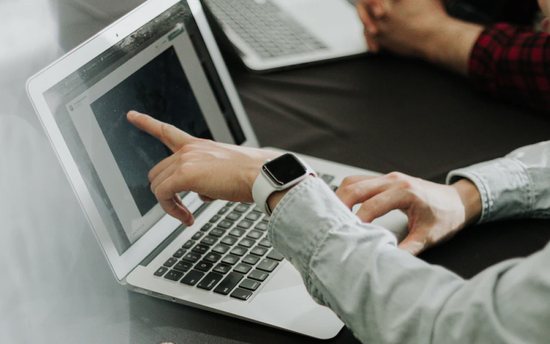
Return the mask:
M 550 217 L 550 141 L 449 173 L 447 183 L 470 179 L 481 194 L 480 222 Z

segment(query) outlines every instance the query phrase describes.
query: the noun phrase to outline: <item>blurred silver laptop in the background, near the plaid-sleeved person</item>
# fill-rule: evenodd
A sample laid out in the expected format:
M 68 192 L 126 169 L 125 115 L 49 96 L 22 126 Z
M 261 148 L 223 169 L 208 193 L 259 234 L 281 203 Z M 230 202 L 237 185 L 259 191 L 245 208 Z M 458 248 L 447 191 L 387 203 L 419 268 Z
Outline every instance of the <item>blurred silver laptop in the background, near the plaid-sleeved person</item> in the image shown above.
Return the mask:
M 244 64 L 267 71 L 365 53 L 355 0 L 204 0 Z

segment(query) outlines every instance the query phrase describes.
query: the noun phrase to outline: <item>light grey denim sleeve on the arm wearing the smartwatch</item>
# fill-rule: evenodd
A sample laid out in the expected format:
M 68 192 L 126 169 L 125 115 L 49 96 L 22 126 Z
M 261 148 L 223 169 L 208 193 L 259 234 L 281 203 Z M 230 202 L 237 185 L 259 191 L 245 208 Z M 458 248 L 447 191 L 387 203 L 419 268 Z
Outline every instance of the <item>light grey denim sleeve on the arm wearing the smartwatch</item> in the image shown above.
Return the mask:
M 365 343 L 548 339 L 543 325 L 549 316 L 548 280 L 539 291 L 531 288 L 540 281 L 540 269 L 548 276 L 548 252 L 522 266 L 510 261 L 464 281 L 397 249 L 392 234 L 360 223 L 315 180 L 284 196 L 269 233 L 313 298 L 333 309 Z M 519 319 L 532 325 L 518 326 Z

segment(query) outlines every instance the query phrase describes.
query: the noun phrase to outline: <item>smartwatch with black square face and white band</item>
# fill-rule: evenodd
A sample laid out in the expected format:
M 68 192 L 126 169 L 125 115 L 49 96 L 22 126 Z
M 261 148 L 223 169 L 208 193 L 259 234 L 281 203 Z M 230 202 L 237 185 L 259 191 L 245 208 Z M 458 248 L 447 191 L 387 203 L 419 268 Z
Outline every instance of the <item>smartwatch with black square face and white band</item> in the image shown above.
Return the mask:
M 310 174 L 317 177 L 307 163 L 291 153 L 267 160 L 252 185 L 252 198 L 265 214 L 271 215 L 271 209 L 267 205 L 269 196 L 274 192 L 293 187 Z

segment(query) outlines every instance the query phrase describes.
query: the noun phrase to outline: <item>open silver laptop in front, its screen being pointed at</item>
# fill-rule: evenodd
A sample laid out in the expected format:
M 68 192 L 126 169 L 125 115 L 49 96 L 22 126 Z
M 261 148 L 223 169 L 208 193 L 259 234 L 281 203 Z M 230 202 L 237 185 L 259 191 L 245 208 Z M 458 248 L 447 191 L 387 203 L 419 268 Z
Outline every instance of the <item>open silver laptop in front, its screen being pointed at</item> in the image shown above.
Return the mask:
M 317 338 L 342 328 L 273 250 L 254 204 L 183 194 L 196 217 L 185 227 L 150 192 L 147 172 L 170 152 L 128 123 L 129 110 L 201 138 L 258 146 L 198 0 L 142 4 L 32 77 L 27 91 L 122 285 Z M 373 174 L 304 159 L 333 187 Z M 406 230 L 399 212 L 378 221 Z

